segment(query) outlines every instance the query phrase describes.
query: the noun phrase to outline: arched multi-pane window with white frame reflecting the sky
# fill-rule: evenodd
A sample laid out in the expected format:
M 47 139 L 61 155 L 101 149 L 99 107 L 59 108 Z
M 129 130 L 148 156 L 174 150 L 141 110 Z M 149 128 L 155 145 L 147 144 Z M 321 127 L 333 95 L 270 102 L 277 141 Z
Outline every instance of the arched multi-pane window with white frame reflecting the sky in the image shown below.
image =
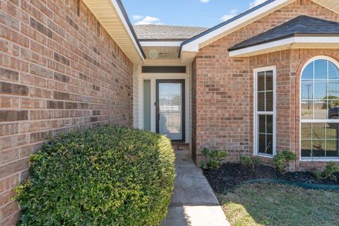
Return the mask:
M 301 155 L 339 157 L 339 67 L 328 57 L 311 59 L 301 77 Z

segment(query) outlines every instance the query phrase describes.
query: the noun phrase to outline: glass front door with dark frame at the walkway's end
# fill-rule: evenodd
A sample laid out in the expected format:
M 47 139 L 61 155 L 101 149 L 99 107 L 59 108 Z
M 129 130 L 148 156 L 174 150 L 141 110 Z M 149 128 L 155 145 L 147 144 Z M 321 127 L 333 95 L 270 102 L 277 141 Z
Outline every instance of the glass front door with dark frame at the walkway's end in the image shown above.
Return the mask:
M 184 80 L 157 80 L 157 133 L 172 141 L 185 138 L 184 90 Z

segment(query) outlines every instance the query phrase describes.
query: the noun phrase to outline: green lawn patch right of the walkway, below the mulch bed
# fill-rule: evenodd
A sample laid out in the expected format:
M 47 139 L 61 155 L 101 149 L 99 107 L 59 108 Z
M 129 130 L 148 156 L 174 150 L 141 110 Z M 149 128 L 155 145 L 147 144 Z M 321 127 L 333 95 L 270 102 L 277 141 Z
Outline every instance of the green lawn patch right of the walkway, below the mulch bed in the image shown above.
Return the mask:
M 218 198 L 232 226 L 339 225 L 338 191 L 261 183 L 244 184 Z

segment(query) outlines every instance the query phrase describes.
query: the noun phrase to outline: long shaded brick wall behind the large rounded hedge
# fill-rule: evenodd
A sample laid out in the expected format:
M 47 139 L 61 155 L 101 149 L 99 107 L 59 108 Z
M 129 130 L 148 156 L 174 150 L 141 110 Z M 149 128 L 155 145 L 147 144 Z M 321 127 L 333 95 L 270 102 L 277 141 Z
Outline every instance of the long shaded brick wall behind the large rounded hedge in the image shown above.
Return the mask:
M 79 0 L 0 0 L 0 225 L 47 137 L 132 125 L 131 61 Z

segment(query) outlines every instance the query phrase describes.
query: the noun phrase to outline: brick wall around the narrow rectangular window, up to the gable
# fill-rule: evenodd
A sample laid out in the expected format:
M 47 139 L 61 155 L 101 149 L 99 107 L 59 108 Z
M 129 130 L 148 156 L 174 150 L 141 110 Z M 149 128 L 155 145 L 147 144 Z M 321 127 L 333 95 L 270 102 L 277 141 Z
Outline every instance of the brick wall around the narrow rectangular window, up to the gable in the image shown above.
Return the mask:
M 199 49 L 192 68 L 193 120 L 192 152 L 199 162 L 203 147 L 227 150 L 227 161 L 237 162 L 239 155 L 253 153 L 254 106 L 253 70 L 257 67 L 277 66 L 277 149 L 299 148 L 299 127 L 296 126 L 295 77 L 291 76 L 298 61 L 299 52 L 289 50 L 265 54 L 261 57 L 230 58 L 227 51 L 234 44 L 270 30 L 299 15 L 339 21 L 338 14 L 313 1 L 298 0 L 256 20 L 230 35 Z M 311 50 L 309 50 L 311 51 Z M 313 52 L 321 54 L 322 52 Z M 300 59 L 299 59 L 300 57 Z M 307 56 L 304 56 L 307 58 Z M 290 88 L 293 88 L 290 90 Z M 299 101 L 299 100 L 298 100 Z M 299 115 L 299 113 L 298 113 Z M 285 123 L 288 118 L 289 123 Z M 294 121 L 293 121 L 294 120 Z M 298 127 L 298 128 L 297 128 Z M 298 150 L 299 152 L 299 150 Z M 196 157 L 195 157 L 196 155 Z M 269 162 L 267 158 L 263 161 Z M 297 162 L 298 164 L 299 162 Z M 307 166 L 309 163 L 300 163 Z M 315 165 L 319 165 L 316 163 Z M 296 168 L 297 166 L 294 166 Z

